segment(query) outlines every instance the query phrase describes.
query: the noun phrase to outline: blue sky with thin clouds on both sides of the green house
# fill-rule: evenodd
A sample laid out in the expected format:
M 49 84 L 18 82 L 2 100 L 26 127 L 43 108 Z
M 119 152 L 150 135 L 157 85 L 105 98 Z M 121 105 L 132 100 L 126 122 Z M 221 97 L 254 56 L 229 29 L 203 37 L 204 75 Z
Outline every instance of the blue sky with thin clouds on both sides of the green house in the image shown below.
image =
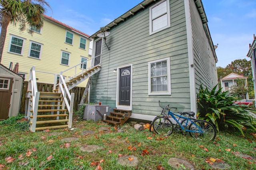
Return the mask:
M 143 0 L 46 0 L 46 15 L 92 35 Z M 256 0 L 202 0 L 212 42 L 218 47 L 216 66 L 226 67 L 246 55 L 256 34 Z

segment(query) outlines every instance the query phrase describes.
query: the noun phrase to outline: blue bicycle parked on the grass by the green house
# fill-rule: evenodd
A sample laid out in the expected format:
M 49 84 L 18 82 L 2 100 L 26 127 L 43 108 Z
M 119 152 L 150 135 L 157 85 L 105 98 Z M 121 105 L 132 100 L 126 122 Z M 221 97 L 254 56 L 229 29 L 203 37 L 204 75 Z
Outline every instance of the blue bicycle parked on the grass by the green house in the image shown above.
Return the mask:
M 177 115 L 170 111 L 170 109 L 169 105 L 167 105 L 166 108 L 163 108 L 161 116 L 156 117 L 152 121 L 151 125 L 156 133 L 169 135 L 172 134 L 174 129 L 178 129 L 182 132 L 188 132 L 190 136 L 197 140 L 210 141 L 216 137 L 216 128 L 214 125 L 205 120 L 191 118 L 195 115 L 194 112 L 178 112 L 180 115 Z M 168 113 L 165 113 L 164 110 L 168 111 Z M 188 117 L 182 115 L 188 115 Z M 176 124 L 174 125 L 169 118 L 174 119 Z

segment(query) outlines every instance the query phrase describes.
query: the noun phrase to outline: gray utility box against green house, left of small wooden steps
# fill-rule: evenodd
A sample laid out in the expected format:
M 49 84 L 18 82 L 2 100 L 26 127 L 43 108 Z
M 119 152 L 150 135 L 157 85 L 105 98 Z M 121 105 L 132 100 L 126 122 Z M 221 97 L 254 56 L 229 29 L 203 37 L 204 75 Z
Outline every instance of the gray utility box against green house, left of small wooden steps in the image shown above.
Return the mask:
M 108 105 L 85 105 L 84 107 L 84 120 L 102 120 L 103 117 L 98 113 L 98 111 L 102 114 L 108 115 Z

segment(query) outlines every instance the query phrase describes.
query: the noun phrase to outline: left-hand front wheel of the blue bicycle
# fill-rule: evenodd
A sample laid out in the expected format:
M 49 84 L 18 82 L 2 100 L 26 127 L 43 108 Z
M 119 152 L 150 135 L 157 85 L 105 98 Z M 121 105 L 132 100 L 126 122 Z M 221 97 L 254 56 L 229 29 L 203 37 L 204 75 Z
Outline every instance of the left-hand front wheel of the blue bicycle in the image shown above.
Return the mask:
M 166 117 L 157 117 L 152 126 L 156 133 L 162 135 L 169 135 L 173 131 L 172 122 Z

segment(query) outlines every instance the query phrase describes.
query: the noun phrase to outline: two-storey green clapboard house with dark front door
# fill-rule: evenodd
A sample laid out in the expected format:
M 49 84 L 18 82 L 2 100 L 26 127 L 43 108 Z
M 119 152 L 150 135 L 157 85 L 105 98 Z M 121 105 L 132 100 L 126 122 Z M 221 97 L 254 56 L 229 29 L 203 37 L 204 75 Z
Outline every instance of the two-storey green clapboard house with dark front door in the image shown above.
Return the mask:
M 144 0 L 100 28 L 93 39 L 90 102 L 132 111 L 152 120 L 162 106 L 197 110 L 203 84 L 218 83 L 207 18 L 201 0 Z

